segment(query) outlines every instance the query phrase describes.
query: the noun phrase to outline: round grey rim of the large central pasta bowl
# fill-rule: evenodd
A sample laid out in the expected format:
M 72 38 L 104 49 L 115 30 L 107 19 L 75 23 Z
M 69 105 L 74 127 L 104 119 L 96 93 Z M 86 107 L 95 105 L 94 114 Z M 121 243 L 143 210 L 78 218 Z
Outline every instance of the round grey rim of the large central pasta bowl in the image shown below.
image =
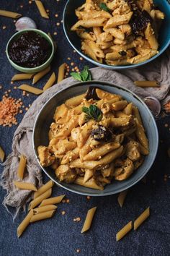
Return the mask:
M 143 171 L 143 174 L 138 178 L 136 179 L 132 184 L 129 184 L 128 186 L 125 186 L 124 188 L 122 189 L 117 189 L 116 192 L 107 192 L 107 193 L 104 193 L 102 194 L 102 191 L 99 191 L 99 194 L 97 193 L 89 193 L 89 192 L 79 192 L 79 191 L 76 191 L 74 189 L 71 189 L 71 188 L 68 188 L 68 187 L 65 187 L 64 183 L 63 182 L 58 182 L 57 179 L 53 179 L 52 176 L 50 176 L 50 174 L 48 174 L 48 171 L 45 170 L 45 168 L 43 168 L 41 165 L 40 165 L 40 161 L 37 157 L 37 153 L 36 153 L 36 148 L 35 148 L 35 127 L 37 126 L 38 124 L 38 119 L 39 119 L 39 116 L 43 110 L 43 108 L 45 108 L 48 103 L 53 99 L 55 98 L 56 95 L 58 95 L 59 93 L 64 93 L 66 90 L 69 90 L 70 88 L 74 88 L 74 87 L 77 87 L 77 86 L 84 86 L 84 85 L 108 85 L 110 87 L 114 87 L 114 88 L 117 88 L 119 90 L 125 90 L 125 92 L 127 93 L 130 93 L 131 95 L 133 95 L 134 98 L 136 98 L 138 101 L 140 101 L 141 104 L 143 104 L 143 106 L 146 108 L 146 110 L 149 112 L 149 114 L 151 115 L 151 121 L 153 123 L 153 128 L 154 128 L 154 131 L 155 131 L 155 139 L 156 139 L 156 148 L 154 150 L 154 153 L 152 155 L 152 160 L 151 160 L 151 163 L 147 166 L 146 170 Z M 57 184 L 59 187 L 62 187 L 63 189 L 66 189 L 70 192 L 73 192 L 73 193 L 76 193 L 78 195 L 89 195 L 89 196 L 94 196 L 94 197 L 102 197 L 102 196 L 107 196 L 107 195 L 114 195 L 114 194 L 117 194 L 119 192 L 122 192 L 126 189 L 129 189 L 130 187 L 133 187 L 136 183 L 138 183 L 140 181 L 140 179 L 143 178 L 143 176 L 145 176 L 148 171 L 150 170 L 151 166 L 153 165 L 153 162 L 155 161 L 156 159 L 156 154 L 158 152 L 158 128 L 157 128 L 157 125 L 156 125 L 156 121 L 153 117 L 153 114 L 151 113 L 151 111 L 149 110 L 148 106 L 146 105 L 146 103 L 143 102 L 143 100 L 141 98 L 138 97 L 138 95 L 136 95 L 135 93 L 131 92 L 130 90 L 128 90 L 127 88 L 124 88 L 120 85 L 114 85 L 112 84 L 111 82 L 104 82 L 104 81 L 97 81 L 97 80 L 93 80 L 93 81 L 88 81 L 88 82 L 77 82 L 73 85 L 70 85 L 68 86 L 67 88 L 63 88 L 61 90 L 59 90 L 57 93 L 55 93 L 52 97 L 50 97 L 48 99 L 48 101 L 45 102 L 45 104 L 42 106 L 42 108 L 40 109 L 39 113 L 37 114 L 36 116 L 36 119 L 35 119 L 35 124 L 34 124 L 34 127 L 33 127 L 33 132 L 32 132 L 32 147 L 33 147 L 33 150 L 34 150 L 34 153 L 35 153 L 35 158 L 37 159 L 37 162 L 39 163 L 39 166 L 40 168 L 42 168 L 42 170 L 45 172 L 45 174 L 53 180 L 53 182 L 55 182 L 55 184 Z M 79 185 L 77 185 L 79 186 Z

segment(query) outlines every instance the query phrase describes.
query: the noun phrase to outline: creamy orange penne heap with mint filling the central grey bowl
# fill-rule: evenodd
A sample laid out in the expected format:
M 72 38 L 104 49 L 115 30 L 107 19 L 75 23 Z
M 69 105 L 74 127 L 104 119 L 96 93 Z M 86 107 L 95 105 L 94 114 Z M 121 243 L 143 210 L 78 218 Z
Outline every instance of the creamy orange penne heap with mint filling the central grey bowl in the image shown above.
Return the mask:
M 102 190 L 128 179 L 149 153 L 138 108 L 120 95 L 89 87 L 58 106 L 53 119 L 49 145 L 37 152 L 60 182 Z

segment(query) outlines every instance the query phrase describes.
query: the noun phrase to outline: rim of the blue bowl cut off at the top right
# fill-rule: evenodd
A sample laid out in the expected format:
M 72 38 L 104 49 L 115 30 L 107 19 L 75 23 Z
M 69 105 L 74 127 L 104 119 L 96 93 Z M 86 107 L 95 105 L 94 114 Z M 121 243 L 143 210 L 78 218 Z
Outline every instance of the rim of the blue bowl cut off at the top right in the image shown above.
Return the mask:
M 98 66 L 98 67 L 103 67 L 105 69 L 134 69 L 134 68 L 137 68 L 137 67 L 140 67 L 140 66 L 143 66 L 145 64 L 148 64 L 149 62 L 153 61 L 154 59 L 156 59 L 158 56 L 160 56 L 161 54 L 164 53 L 164 51 L 166 51 L 166 48 L 169 47 L 170 45 L 170 37 L 169 37 L 169 41 L 166 43 L 166 45 L 164 46 L 164 48 L 162 48 L 161 51 L 158 51 L 158 54 L 154 55 L 153 57 L 151 57 L 151 59 L 148 59 L 147 61 L 143 61 L 143 62 L 140 62 L 138 64 L 130 64 L 130 65 L 121 65 L 121 66 L 112 66 L 112 65 L 107 65 L 107 64 L 102 64 L 102 63 L 99 63 L 97 61 L 94 61 L 93 59 L 89 58 L 89 56 L 87 56 L 86 54 L 83 54 L 81 51 L 79 51 L 78 48 L 76 48 L 76 46 L 74 46 L 73 43 L 71 43 L 71 40 L 70 38 L 68 37 L 68 33 L 66 32 L 66 9 L 68 7 L 68 4 L 69 4 L 70 0 L 68 0 L 66 2 L 66 5 L 63 9 L 63 30 L 64 30 L 64 33 L 66 35 L 66 38 L 68 40 L 68 42 L 70 43 L 70 45 L 73 47 L 73 49 L 81 56 L 83 57 L 84 59 L 86 59 L 86 61 L 89 61 L 91 62 L 92 64 Z

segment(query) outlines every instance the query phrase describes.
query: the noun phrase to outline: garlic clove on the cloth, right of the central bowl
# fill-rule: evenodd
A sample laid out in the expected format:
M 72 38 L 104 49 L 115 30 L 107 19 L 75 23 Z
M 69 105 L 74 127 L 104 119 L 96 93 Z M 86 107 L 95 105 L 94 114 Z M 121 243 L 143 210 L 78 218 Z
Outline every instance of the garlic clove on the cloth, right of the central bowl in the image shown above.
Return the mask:
M 151 110 L 153 116 L 158 116 L 161 112 L 161 103 L 155 97 L 146 97 L 143 99 L 148 108 Z

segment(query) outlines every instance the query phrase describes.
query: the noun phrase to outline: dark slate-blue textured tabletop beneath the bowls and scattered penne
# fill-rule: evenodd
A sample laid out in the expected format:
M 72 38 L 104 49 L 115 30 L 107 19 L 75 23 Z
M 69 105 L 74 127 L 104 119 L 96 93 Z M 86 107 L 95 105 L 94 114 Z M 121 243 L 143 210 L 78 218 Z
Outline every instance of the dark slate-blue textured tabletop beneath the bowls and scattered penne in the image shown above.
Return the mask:
M 0 9 L 8 9 L 22 13 L 23 16 L 32 17 L 37 23 L 37 27 L 45 32 L 50 32 L 58 44 L 58 51 L 52 64 L 53 71 L 57 75 L 58 66 L 64 61 L 80 69 L 84 67 L 86 61 L 80 61 L 79 55 L 73 52 L 65 36 L 63 35 L 62 13 L 66 0 L 43 1 L 45 8 L 50 10 L 50 20 L 40 17 L 34 1 L 29 4 L 28 0 L 5 1 L 0 0 Z M 23 7 L 22 7 L 23 6 Z M 58 14 L 58 17 L 55 17 Z M 60 22 L 57 26 L 56 23 Z M 6 29 L 3 29 L 6 26 Z M 17 73 L 6 59 L 5 47 L 9 38 L 14 34 L 14 22 L 10 18 L 0 17 L 0 101 L 6 90 L 11 89 L 14 98 L 22 98 L 24 106 L 29 106 L 37 96 L 22 96 L 22 92 L 14 90 L 15 85 L 22 82 L 15 82 L 11 85 L 11 78 Z M 67 58 L 71 58 L 68 61 Z M 89 67 L 92 67 L 89 64 Z M 48 80 L 48 74 L 44 79 L 36 84 L 42 88 Z M 25 81 L 29 82 L 29 81 Z M 24 114 L 17 116 L 18 121 L 22 120 Z M 166 116 L 157 121 L 160 135 L 160 145 L 156 162 L 146 177 L 146 184 L 139 182 L 130 189 L 123 208 L 117 203 L 117 195 L 109 197 L 94 197 L 87 200 L 85 196 L 74 195 L 61 188 L 54 187 L 53 196 L 66 194 L 70 203 L 61 203 L 52 219 L 33 223 L 28 227 L 20 239 L 17 239 L 17 226 L 24 218 L 25 214 L 20 213 L 16 221 L 12 221 L 12 216 L 6 212 L 0 204 L 0 255 L 35 255 L 35 256 L 107 256 L 107 255 L 138 255 L 138 256 L 168 256 L 170 253 L 170 158 L 167 149 L 170 146 L 170 119 Z M 168 124 L 168 127 L 165 124 Z M 12 136 L 17 126 L 0 126 L 0 145 L 4 148 L 6 155 L 11 152 Z M 3 169 L 0 166 L 0 171 Z M 168 175 L 164 181 L 164 174 Z M 44 182 L 48 179 L 44 177 Z M 5 191 L 0 187 L 0 203 L 4 199 Z M 86 234 L 81 234 L 81 227 L 84 223 L 86 211 L 97 205 L 97 213 L 91 226 L 91 230 Z M 143 223 L 138 231 L 130 231 L 120 242 L 116 242 L 115 236 L 122 226 L 128 221 L 135 220 L 143 210 L 151 207 L 151 216 Z M 66 215 L 62 216 L 61 211 L 65 210 Z M 73 218 L 80 217 L 81 221 L 75 223 Z M 76 249 L 81 249 L 77 253 Z

